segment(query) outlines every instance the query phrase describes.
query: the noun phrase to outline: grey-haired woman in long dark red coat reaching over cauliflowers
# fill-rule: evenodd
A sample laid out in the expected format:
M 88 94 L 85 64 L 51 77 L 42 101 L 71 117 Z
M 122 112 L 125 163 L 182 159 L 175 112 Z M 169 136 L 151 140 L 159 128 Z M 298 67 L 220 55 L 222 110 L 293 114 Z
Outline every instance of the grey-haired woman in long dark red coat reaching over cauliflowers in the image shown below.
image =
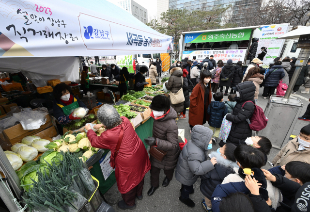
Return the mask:
M 111 158 L 114 157 L 115 148 L 122 128 L 124 128 L 123 140 L 119 152 L 115 158 L 115 177 L 117 188 L 122 194 L 123 200 L 119 201 L 121 209 L 136 208 L 135 198 L 142 199 L 144 176 L 151 169 L 151 163 L 147 151 L 133 129 L 130 121 L 120 114 L 112 105 L 105 104 L 97 112 L 99 121 L 102 124 L 94 126 L 98 129 L 102 126 L 106 131 L 98 137 L 87 125 L 87 137 L 92 147 L 111 150 Z

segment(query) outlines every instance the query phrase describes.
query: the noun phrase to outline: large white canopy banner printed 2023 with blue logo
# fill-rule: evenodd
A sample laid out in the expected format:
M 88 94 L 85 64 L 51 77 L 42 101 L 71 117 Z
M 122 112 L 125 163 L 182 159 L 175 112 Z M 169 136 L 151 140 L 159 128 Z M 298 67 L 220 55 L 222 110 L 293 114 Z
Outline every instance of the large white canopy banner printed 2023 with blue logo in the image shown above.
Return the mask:
M 172 51 L 171 36 L 135 24 L 139 21 L 136 18 L 127 22 L 125 16 L 117 16 L 122 8 L 102 2 L 112 8 L 106 7 L 100 13 L 63 0 L 1 0 L 0 56 L 105 56 Z M 109 9 L 115 10 L 116 16 L 105 15 L 104 11 Z

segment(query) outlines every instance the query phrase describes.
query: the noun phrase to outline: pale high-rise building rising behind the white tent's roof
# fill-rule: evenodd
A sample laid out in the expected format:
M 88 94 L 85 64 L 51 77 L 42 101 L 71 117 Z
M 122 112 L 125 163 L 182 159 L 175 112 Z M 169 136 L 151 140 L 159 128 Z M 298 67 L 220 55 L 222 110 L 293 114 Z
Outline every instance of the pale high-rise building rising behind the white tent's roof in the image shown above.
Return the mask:
M 134 0 L 123 0 L 118 1 L 117 3 L 120 7 L 124 8 L 124 10 L 126 10 L 131 15 L 135 16 L 141 22 L 143 23 L 148 22 L 147 9 L 142 7 Z

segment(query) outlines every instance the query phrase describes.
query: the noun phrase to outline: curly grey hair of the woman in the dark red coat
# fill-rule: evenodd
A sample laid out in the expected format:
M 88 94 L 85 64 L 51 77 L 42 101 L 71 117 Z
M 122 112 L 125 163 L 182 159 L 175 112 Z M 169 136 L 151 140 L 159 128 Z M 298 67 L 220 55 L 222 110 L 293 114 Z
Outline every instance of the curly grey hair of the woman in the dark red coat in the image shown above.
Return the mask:
M 122 122 L 120 114 L 109 104 L 104 104 L 99 108 L 97 117 L 107 129 L 112 129 Z

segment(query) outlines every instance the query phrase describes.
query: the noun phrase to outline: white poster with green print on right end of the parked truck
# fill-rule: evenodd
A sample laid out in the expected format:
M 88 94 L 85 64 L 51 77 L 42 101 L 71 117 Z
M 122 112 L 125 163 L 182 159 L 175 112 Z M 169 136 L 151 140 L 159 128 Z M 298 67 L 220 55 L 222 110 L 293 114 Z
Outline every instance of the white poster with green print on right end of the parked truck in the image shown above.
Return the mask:
M 269 62 L 272 62 L 276 57 L 280 56 L 285 39 L 276 40 L 276 38 L 287 33 L 289 31 L 289 25 L 277 24 L 259 29 L 261 30 L 261 34 L 259 37 L 260 40 L 258 41 L 256 57 L 262 52 L 261 48 L 266 47 L 267 54 L 264 57 L 263 62 L 269 64 Z

